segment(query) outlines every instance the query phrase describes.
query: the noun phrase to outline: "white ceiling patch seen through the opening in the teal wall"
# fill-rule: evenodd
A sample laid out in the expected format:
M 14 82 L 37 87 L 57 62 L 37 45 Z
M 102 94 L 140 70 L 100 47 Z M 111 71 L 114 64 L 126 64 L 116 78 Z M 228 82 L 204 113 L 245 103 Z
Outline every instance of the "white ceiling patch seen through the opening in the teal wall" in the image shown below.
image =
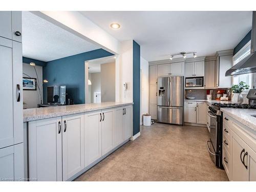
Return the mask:
M 105 64 L 105 63 L 115 62 L 115 61 L 116 61 L 116 59 L 114 56 L 91 60 L 88 62 L 88 67 L 89 67 L 88 71 L 89 71 L 89 73 L 99 73 L 100 65 Z

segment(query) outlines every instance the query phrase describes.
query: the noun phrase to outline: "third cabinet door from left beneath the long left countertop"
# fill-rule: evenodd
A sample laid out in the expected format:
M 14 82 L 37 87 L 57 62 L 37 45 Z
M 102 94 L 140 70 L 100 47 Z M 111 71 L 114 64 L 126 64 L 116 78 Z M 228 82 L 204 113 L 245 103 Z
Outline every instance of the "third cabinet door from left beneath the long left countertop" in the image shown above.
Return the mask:
M 101 111 L 84 114 L 84 161 L 90 165 L 101 157 Z

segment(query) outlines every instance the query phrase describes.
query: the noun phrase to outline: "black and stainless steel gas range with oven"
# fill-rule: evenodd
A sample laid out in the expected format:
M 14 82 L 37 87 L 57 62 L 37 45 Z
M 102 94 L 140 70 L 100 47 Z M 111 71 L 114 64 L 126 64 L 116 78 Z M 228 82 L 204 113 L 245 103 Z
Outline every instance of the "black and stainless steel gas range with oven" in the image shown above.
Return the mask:
M 254 95 L 256 90 L 250 91 Z M 250 93 L 249 92 L 249 93 Z M 248 94 L 249 95 L 249 94 Z M 256 94 L 250 97 L 256 101 Z M 256 102 L 255 102 L 256 103 Z M 238 109 L 256 109 L 256 105 L 252 104 L 232 104 L 232 103 L 212 103 L 209 106 L 208 116 L 210 117 L 210 140 L 207 141 L 207 148 L 212 161 L 219 168 L 222 165 L 222 119 L 223 115 L 220 108 L 238 108 Z

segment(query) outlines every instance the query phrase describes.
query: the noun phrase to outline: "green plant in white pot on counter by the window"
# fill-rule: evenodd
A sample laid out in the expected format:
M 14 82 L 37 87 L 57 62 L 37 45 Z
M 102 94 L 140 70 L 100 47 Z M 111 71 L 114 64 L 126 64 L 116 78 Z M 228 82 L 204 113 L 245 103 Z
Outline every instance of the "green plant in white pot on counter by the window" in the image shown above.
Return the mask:
M 231 91 L 233 93 L 231 101 L 233 103 L 241 104 L 243 102 L 242 92 L 246 89 L 249 89 L 250 86 L 245 82 L 241 81 L 239 84 L 233 84 L 231 87 Z

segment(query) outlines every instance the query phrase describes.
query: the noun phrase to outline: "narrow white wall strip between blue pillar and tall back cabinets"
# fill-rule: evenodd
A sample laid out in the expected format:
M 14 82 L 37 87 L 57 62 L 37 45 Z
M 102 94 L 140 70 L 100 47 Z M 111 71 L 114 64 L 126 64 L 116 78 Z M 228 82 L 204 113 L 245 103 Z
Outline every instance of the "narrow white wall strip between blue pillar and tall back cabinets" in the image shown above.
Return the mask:
M 140 85 L 140 124 L 142 124 L 142 115 L 148 113 L 148 98 L 149 98 L 149 86 L 148 86 L 148 61 L 140 57 L 140 69 L 141 69 L 141 85 Z

